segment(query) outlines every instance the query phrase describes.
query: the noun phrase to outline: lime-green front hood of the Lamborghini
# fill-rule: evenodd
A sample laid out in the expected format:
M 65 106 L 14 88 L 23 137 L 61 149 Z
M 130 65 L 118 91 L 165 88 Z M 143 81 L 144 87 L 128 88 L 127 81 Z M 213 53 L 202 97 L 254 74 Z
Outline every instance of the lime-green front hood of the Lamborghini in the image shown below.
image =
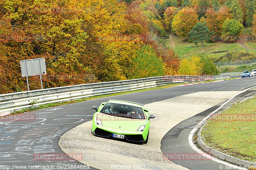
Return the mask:
M 128 119 L 104 113 L 97 113 L 96 117 L 101 120 L 103 126 L 122 130 L 137 131 L 141 125 L 146 125 L 148 123 L 147 119 Z

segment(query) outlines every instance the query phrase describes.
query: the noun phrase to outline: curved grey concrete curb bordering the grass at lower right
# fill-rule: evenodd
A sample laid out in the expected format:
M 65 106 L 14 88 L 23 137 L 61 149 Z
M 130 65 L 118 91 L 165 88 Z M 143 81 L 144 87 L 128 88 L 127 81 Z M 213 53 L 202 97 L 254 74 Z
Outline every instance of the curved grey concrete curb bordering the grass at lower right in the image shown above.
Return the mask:
M 205 122 L 203 124 L 203 126 L 199 129 L 199 131 L 197 133 L 196 142 L 197 142 L 197 145 L 198 145 L 199 148 L 203 149 L 204 152 L 207 152 L 207 153 L 209 153 L 210 155 L 212 155 L 214 157 L 218 157 L 219 159 L 225 160 L 227 162 L 231 162 L 231 163 L 236 164 L 238 166 L 247 166 L 247 167 L 254 166 L 254 168 L 256 167 L 256 162 L 250 162 L 250 161 L 247 161 L 247 160 L 243 160 L 243 159 L 233 157 L 233 156 L 228 155 L 226 153 L 217 151 L 216 149 L 213 149 L 211 146 L 208 146 L 207 144 L 205 144 L 204 140 L 202 139 L 201 132 L 202 132 L 202 129 L 204 128 L 206 123 L 207 122 Z

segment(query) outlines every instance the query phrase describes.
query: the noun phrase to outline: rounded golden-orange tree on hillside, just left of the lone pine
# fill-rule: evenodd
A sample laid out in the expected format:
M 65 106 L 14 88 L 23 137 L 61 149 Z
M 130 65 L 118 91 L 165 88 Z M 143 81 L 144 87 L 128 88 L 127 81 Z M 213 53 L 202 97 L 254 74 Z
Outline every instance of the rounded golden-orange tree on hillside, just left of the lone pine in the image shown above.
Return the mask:
M 196 25 L 198 15 L 191 8 L 181 9 L 173 18 L 172 29 L 180 37 L 188 37 L 188 33 Z

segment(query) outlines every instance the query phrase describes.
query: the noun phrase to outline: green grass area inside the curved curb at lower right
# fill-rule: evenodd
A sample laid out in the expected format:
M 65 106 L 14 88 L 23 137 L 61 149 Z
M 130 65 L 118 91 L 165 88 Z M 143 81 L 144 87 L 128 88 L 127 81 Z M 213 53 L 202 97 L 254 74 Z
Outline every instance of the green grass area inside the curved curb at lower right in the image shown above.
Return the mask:
M 202 130 L 206 144 L 240 159 L 256 161 L 256 97 L 231 106 Z

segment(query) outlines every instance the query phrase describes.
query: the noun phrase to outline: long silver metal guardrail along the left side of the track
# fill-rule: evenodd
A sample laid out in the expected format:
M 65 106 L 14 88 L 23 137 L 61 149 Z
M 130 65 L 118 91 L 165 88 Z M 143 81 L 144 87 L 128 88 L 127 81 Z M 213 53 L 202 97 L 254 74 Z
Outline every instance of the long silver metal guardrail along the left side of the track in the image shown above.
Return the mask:
M 0 109 L 2 109 L 0 113 L 6 114 L 23 108 L 36 107 L 41 104 L 77 100 L 94 95 L 138 90 L 167 84 L 226 78 L 230 78 L 230 76 L 161 76 L 1 94 L 0 100 L 4 102 L 0 102 Z

